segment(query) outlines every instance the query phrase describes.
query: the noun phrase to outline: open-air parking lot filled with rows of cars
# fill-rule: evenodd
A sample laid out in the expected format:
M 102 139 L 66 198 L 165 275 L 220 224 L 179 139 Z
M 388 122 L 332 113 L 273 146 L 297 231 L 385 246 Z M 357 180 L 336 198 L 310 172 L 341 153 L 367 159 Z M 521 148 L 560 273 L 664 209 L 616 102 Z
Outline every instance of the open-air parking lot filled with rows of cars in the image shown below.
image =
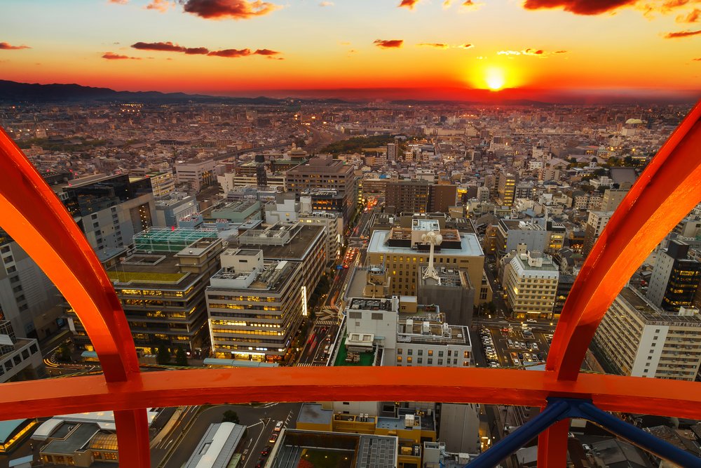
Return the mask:
M 482 326 L 479 337 L 490 367 L 537 366 L 545 363 L 552 330 L 517 325 Z

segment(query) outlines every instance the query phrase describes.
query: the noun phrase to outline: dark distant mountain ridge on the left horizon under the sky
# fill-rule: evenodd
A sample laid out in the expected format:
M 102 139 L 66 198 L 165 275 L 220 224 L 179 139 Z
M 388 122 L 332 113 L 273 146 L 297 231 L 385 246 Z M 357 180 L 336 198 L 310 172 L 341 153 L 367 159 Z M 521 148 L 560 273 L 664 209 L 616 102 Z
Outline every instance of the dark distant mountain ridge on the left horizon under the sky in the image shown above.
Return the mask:
M 230 104 L 285 105 L 275 98 L 227 98 L 158 91 L 114 91 L 79 84 L 36 84 L 0 80 L 0 102 L 227 102 Z

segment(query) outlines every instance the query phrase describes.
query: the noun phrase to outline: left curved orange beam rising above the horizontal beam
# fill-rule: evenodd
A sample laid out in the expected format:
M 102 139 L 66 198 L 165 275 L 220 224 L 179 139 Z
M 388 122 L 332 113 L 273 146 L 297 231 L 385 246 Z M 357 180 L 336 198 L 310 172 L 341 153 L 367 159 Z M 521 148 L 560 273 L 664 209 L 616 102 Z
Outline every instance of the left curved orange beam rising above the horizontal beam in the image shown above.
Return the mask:
M 121 304 L 93 248 L 63 203 L 0 128 L 0 226 L 75 309 L 111 382 L 139 373 Z

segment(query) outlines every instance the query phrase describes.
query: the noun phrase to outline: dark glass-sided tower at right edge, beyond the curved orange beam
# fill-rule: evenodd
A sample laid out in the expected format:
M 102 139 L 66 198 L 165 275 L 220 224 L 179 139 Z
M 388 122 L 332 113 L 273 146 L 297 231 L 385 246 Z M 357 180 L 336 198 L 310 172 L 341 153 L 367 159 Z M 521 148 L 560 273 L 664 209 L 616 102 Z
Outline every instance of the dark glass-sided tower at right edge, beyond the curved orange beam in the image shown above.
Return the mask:
M 701 281 L 701 262 L 687 258 L 688 243 L 673 240 L 658 255 L 646 296 L 657 307 L 677 311 L 692 307 Z

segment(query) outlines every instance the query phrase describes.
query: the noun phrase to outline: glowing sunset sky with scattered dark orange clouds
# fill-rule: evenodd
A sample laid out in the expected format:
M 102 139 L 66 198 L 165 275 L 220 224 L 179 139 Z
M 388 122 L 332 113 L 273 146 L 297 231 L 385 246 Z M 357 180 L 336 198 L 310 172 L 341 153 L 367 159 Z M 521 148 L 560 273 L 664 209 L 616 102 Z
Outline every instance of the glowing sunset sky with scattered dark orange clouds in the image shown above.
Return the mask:
M 701 98 L 701 0 L 3 0 L 0 79 L 214 95 Z

